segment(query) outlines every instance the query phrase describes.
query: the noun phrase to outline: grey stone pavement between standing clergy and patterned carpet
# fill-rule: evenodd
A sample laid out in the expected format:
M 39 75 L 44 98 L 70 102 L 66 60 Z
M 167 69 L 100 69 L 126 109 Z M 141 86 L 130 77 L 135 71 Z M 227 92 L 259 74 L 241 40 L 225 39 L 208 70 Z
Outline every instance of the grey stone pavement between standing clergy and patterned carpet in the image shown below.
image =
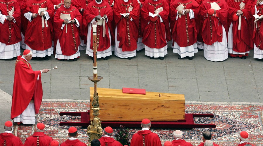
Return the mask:
M 34 70 L 58 67 L 42 74 L 43 98 L 89 99 L 89 87 L 94 86 L 88 79 L 93 76 L 93 64 L 85 51 L 80 52 L 77 61 L 59 61 L 54 56 L 48 61 L 30 61 Z M 253 50 L 245 60 L 228 58 L 222 62 L 206 60 L 203 51 L 195 53 L 193 60 L 179 60 L 178 56 L 169 48 L 165 60 L 149 59 L 144 50 L 132 60 L 115 55 L 108 60 L 98 59 L 98 76 L 103 77 L 98 87 L 184 94 L 187 102 L 263 102 L 263 61 L 253 58 Z M 15 60 L 0 60 L 0 89 L 10 95 L 14 64 Z M 0 103 L 3 121 L 10 119 L 6 107 L 11 105 L 10 100 L 5 101 Z

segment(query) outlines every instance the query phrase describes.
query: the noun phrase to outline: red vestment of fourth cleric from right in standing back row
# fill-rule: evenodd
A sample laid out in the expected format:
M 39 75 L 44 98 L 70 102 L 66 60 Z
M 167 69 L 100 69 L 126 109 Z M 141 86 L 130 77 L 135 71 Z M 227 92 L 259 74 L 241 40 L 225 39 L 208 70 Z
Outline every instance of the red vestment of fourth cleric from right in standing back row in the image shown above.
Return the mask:
M 174 27 L 172 30 L 172 38 L 180 47 L 191 46 L 197 41 L 197 28 L 195 18 L 190 19 L 189 14 L 181 15 L 177 20 L 177 6 L 183 5 L 184 9 L 192 9 L 195 18 L 198 17 L 199 5 L 192 0 L 174 0 L 170 5 L 170 17 L 174 22 Z

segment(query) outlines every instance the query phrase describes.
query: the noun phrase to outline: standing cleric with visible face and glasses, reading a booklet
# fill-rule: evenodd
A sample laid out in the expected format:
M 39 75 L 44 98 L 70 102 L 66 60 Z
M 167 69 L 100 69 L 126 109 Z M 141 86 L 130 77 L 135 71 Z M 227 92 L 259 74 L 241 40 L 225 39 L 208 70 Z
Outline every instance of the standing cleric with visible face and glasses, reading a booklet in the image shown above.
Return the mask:
M 60 60 L 72 59 L 77 61 L 79 58 L 79 28 L 82 25 L 82 15 L 75 6 L 71 5 L 71 0 L 64 0 L 64 5 L 57 9 L 54 17 L 54 30 L 56 56 Z M 62 19 L 67 15 L 68 21 Z M 70 20 L 69 20 L 70 19 Z

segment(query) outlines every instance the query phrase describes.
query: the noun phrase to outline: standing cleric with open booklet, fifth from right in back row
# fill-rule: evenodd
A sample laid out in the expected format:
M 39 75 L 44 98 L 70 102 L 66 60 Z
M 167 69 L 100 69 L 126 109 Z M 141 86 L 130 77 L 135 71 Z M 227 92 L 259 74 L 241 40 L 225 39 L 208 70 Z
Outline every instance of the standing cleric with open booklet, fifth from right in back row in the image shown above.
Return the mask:
M 155 11 L 159 8 L 159 13 Z M 157 16 L 149 16 L 149 14 Z M 167 54 L 167 42 L 171 40 L 169 27 L 169 5 L 166 0 L 146 0 L 141 8 L 142 43 L 145 55 L 150 59 L 164 59 Z

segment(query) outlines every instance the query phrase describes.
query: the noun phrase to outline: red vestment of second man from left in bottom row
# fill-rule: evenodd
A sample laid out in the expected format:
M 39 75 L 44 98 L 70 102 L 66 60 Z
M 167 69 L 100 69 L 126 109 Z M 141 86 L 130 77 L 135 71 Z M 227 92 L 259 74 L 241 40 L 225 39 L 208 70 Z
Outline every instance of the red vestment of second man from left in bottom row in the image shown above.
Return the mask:
M 37 143 L 39 143 L 39 145 L 49 146 L 52 140 L 53 138 L 44 134 L 44 132 L 34 132 L 32 136 L 25 140 L 24 146 L 38 146 Z

